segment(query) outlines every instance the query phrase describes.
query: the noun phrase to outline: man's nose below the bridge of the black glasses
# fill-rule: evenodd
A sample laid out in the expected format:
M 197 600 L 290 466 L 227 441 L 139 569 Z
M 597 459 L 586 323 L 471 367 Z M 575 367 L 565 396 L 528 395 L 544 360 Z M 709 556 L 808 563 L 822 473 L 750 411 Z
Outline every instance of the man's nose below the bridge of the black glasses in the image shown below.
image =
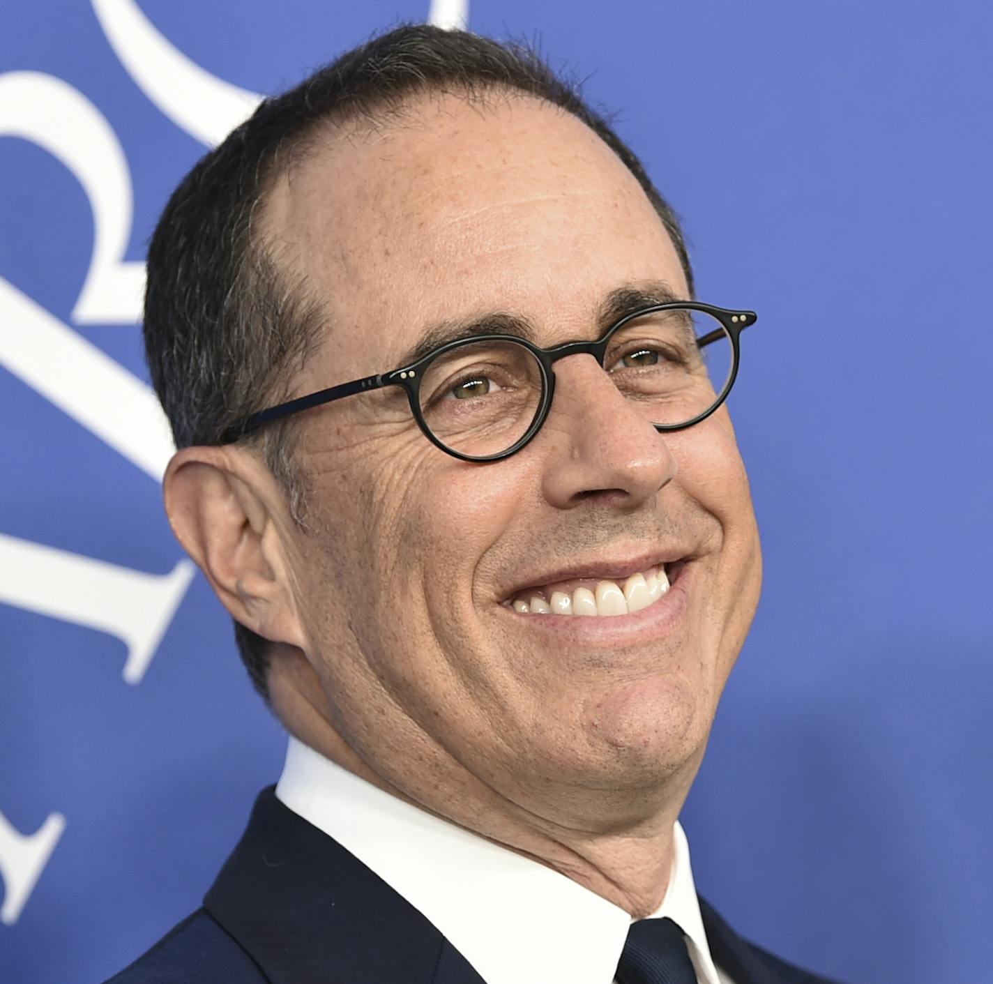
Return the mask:
M 592 355 L 563 358 L 555 370 L 555 396 L 535 439 L 549 503 L 571 508 L 596 496 L 633 511 L 675 478 L 665 437 Z

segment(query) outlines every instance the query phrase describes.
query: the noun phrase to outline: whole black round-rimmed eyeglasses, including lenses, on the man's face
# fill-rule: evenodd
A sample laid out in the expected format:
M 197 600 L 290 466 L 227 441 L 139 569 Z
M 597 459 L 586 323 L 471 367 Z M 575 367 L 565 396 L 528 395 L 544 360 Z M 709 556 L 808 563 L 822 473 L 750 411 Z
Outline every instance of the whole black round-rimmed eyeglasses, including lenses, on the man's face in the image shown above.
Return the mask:
M 656 430 L 678 431 L 705 420 L 727 399 L 738 374 L 739 337 L 757 318 L 754 311 L 678 301 L 626 315 L 597 342 L 540 349 L 514 335 L 474 335 L 410 365 L 253 413 L 221 443 L 345 396 L 402 386 L 432 444 L 462 461 L 497 461 L 520 451 L 541 429 L 555 395 L 552 366 L 568 355 L 593 355 Z

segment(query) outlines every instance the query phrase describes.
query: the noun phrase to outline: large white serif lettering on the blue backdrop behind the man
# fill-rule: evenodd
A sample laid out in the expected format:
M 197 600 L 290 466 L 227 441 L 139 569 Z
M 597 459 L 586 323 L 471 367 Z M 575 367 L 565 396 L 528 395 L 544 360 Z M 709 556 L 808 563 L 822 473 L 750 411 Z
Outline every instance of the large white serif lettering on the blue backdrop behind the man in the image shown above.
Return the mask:
M 91 0 L 114 54 L 148 99 L 197 140 L 213 146 L 258 104 L 259 95 L 194 64 L 164 38 L 134 0 Z M 431 0 L 430 23 L 464 28 L 469 0 Z M 135 326 L 144 263 L 124 259 L 131 235 L 131 172 L 120 141 L 78 89 L 54 75 L 0 75 L 0 137 L 44 148 L 79 182 L 93 212 L 89 269 L 71 313 L 75 325 Z M 0 277 L 0 364 L 150 478 L 173 451 L 151 389 L 34 299 Z M 195 573 L 180 560 L 148 574 L 0 533 L 0 603 L 109 633 L 124 641 L 121 671 L 141 682 Z M 12 925 L 66 828 L 50 813 L 22 834 L 0 812 L 0 921 Z

